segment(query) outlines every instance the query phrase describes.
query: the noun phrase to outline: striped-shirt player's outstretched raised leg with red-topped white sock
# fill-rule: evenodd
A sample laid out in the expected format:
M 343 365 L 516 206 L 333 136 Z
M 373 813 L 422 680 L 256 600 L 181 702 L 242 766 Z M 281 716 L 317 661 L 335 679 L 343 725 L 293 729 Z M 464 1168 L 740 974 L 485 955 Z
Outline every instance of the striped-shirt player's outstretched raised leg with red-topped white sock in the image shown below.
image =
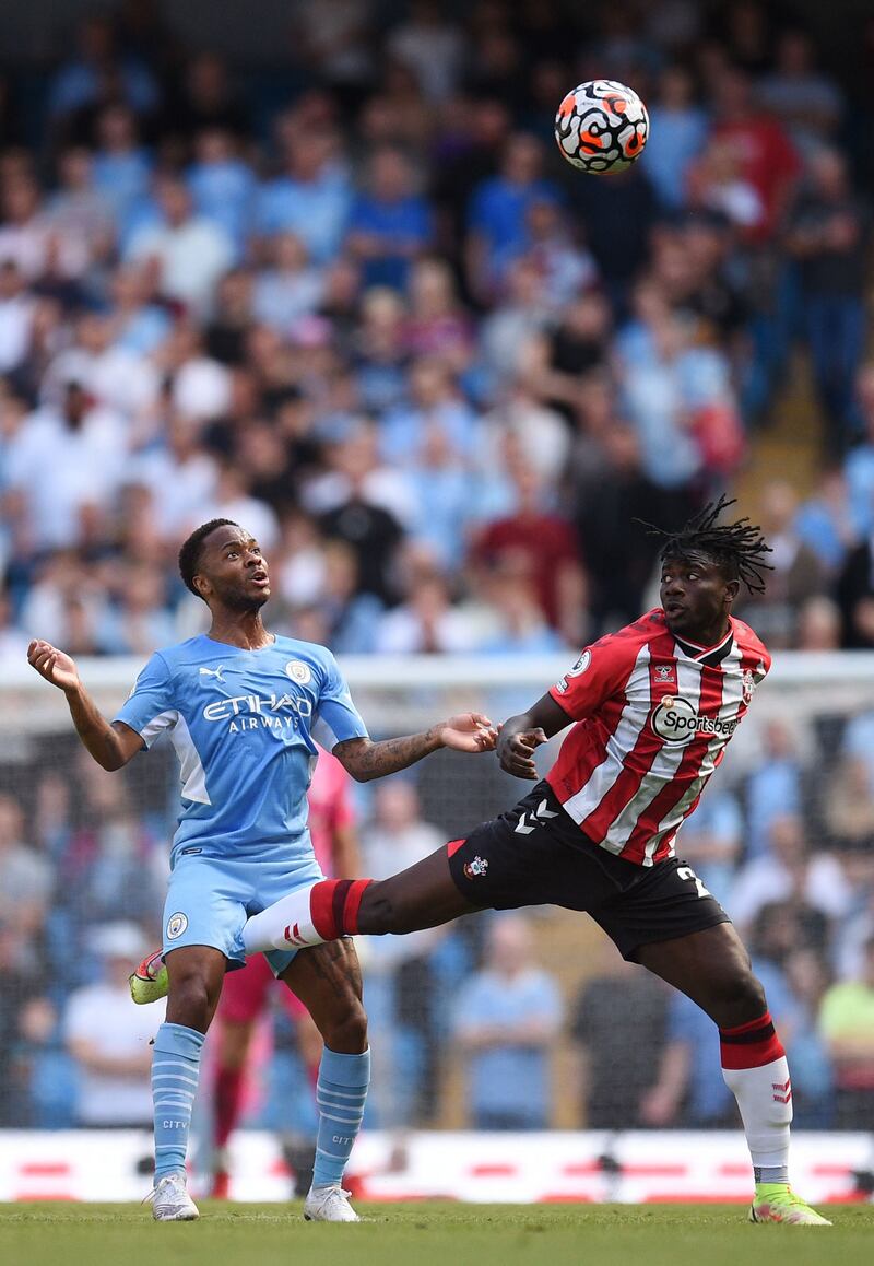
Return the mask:
M 462 896 L 452 877 L 454 843 L 391 879 L 326 879 L 290 893 L 247 922 L 247 955 L 304 948 L 344 936 L 419 932 L 482 909 Z

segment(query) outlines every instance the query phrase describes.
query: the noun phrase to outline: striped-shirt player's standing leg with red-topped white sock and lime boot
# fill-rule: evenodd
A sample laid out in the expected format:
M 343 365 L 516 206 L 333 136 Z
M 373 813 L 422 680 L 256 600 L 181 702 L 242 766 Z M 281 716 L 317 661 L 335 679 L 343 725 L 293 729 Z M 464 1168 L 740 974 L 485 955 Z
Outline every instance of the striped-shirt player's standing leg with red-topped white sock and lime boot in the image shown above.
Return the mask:
M 789 1186 L 789 1067 L 764 990 L 732 924 L 641 946 L 637 960 L 718 1025 L 722 1076 L 737 1100 L 753 1161 L 750 1220 L 831 1225 Z

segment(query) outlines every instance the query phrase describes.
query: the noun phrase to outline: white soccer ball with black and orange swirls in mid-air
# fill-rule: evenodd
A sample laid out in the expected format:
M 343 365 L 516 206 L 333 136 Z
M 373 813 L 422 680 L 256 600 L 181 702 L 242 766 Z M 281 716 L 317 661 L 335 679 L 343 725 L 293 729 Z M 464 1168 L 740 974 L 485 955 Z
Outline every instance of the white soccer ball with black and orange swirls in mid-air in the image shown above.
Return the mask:
M 568 92 L 555 115 L 562 154 L 594 176 L 625 171 L 643 153 L 649 137 L 646 106 L 615 80 L 591 80 Z

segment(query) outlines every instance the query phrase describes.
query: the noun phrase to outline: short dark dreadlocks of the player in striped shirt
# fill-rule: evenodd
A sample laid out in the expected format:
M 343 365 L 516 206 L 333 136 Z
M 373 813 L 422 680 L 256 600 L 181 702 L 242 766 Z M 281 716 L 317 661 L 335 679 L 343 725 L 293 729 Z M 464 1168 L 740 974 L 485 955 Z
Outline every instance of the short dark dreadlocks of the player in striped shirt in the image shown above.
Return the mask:
M 751 594 L 764 594 L 763 572 L 773 571 L 764 556 L 772 548 L 761 536 L 761 528 L 750 523 L 749 518 L 736 523 L 718 523 L 717 519 L 736 498 L 722 495 L 718 501 L 710 501 L 703 510 L 693 514 L 678 532 L 664 532 L 653 523 L 635 519 L 646 528 L 650 537 L 663 539 L 660 558 L 683 558 L 689 553 L 703 553 L 713 560 L 732 580 L 740 580 Z

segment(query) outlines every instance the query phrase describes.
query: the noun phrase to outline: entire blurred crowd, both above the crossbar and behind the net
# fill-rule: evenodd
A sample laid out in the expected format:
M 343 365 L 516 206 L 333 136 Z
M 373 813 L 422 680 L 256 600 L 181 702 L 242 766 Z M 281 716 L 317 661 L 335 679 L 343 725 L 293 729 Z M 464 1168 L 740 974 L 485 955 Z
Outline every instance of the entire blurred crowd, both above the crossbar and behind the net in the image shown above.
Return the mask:
M 874 647 L 874 22 L 858 81 L 755 0 L 317 0 L 290 24 L 281 73 L 262 73 L 128 0 L 68 33 L 35 86 L 0 73 L 0 665 L 33 636 L 144 657 L 199 632 L 175 558 L 219 515 L 264 547 L 271 625 L 339 655 L 575 649 L 649 601 L 654 546 L 631 519 L 677 524 L 734 486 L 798 349 L 821 480 L 799 495 L 773 479 L 744 506 L 775 571 L 741 614 L 773 647 Z M 596 76 L 631 84 L 651 118 L 641 161 L 608 179 L 551 139 L 557 104 Z M 820 1125 L 861 1091 L 874 1128 L 871 724 L 816 753 L 775 727 L 759 772 L 684 828 Z M 834 795 L 811 805 L 823 761 Z M 159 910 L 166 805 L 73 768 L 72 804 L 56 774 L 25 818 L 0 800 L 6 1123 L 81 1119 L 71 1077 L 94 1056 L 68 986 L 104 962 L 118 993 L 113 956 Z M 388 813 L 439 836 L 407 799 L 377 796 L 364 830 L 393 829 Z M 116 925 L 106 944 L 86 920 Z M 500 1089 L 519 1079 L 549 1120 L 564 1025 L 586 1052 L 579 1120 L 621 1060 L 635 1122 L 725 1118 L 696 1062 L 717 1070 L 715 1039 L 682 1000 L 615 966 L 578 999 L 560 981 L 563 1015 L 532 934 L 495 923 L 483 943 L 374 955 L 410 1085 L 455 1032 L 472 1120 L 507 1120 Z M 658 1060 L 616 1037 L 644 1012 Z M 382 1110 L 436 1108 L 411 1091 Z

